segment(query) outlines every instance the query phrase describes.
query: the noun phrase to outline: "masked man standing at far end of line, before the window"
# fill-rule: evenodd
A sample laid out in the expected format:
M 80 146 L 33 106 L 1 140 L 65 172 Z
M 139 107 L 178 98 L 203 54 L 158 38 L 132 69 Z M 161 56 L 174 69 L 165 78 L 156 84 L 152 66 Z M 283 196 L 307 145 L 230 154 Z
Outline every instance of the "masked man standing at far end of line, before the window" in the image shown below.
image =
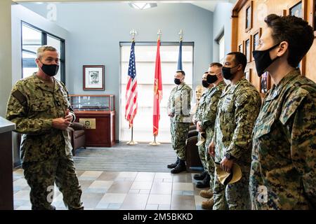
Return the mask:
M 186 171 L 185 166 L 185 140 L 190 127 L 190 108 L 192 89 L 186 85 L 185 72 L 177 71 L 174 76 L 176 87 L 171 91 L 168 101 L 168 116 L 171 121 L 171 142 L 172 148 L 178 158 L 175 163 L 168 165 L 172 174 Z

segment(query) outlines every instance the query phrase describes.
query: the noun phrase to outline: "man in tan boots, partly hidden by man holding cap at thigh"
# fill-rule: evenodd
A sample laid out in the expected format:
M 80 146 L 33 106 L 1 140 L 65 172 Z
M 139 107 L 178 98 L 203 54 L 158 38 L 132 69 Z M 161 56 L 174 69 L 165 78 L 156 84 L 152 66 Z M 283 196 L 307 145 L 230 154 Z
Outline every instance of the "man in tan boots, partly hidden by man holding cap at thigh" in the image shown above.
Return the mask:
M 209 173 L 209 190 L 201 190 L 199 195 L 202 197 L 208 198 L 202 202 L 202 209 L 212 209 L 213 208 L 213 186 L 214 186 L 214 162 L 213 158 L 209 155 L 208 146 L 213 139 L 214 134 L 214 125 L 216 119 L 216 113 L 218 109 L 218 101 L 220 95 L 222 94 L 225 83 L 223 81 L 223 76 L 221 74 L 223 65 L 220 63 L 212 63 L 209 67 L 209 73 L 206 78 L 206 82 L 210 85 L 213 85 L 209 91 L 207 97 L 207 106 L 204 112 L 202 113 L 201 120 L 197 122 L 197 129 L 204 131 L 206 133 L 206 141 L 204 144 L 204 158 L 206 158 L 206 170 Z

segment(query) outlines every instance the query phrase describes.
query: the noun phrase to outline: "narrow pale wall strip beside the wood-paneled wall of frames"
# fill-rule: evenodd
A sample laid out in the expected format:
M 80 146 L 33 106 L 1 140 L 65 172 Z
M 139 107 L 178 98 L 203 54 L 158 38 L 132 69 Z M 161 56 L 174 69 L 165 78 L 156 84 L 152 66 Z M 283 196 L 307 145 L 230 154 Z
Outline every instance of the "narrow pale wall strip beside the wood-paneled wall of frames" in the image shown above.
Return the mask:
M 223 34 L 225 36 L 225 54 L 231 50 L 232 42 L 232 7 L 234 5 L 229 2 L 218 3 L 213 13 L 213 60 L 219 61 L 219 45 L 217 38 Z

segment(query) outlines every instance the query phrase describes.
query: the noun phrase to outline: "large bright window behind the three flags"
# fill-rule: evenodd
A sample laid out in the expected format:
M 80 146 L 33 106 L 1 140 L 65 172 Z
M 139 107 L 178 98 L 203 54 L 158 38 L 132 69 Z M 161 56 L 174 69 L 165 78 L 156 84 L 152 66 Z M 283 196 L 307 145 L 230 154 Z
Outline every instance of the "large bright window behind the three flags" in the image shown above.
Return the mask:
M 159 134 L 157 141 L 171 142 L 170 118 L 167 116 L 166 106 L 174 84 L 174 75 L 178 65 L 178 43 L 162 43 L 160 57 L 162 65 L 162 102 L 160 103 Z M 125 93 L 127 84 L 127 71 L 131 43 L 121 43 L 121 110 L 120 110 L 120 141 L 131 140 L 129 123 L 125 120 Z M 136 77 L 138 83 L 138 111 L 133 120 L 133 140 L 149 142 L 152 135 L 152 113 L 154 104 L 154 69 L 156 60 L 156 43 L 136 42 Z M 183 43 L 183 71 L 185 83 L 192 87 L 193 82 L 193 43 Z

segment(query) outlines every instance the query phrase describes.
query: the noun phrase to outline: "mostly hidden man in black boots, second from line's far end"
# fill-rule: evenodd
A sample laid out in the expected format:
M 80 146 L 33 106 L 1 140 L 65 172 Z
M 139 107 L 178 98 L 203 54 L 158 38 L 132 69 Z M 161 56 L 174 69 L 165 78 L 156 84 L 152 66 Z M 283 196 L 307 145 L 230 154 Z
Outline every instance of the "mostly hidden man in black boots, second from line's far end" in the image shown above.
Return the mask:
M 207 83 L 206 77 L 208 75 L 209 75 L 209 72 L 206 71 L 202 76 L 202 85 L 203 85 L 203 87 L 206 88 L 206 90 L 204 91 L 201 99 L 199 100 L 199 104 L 197 106 L 197 111 L 195 111 L 195 115 L 193 116 L 193 119 L 192 119 L 192 121 L 195 125 L 201 124 L 202 115 L 206 111 L 206 108 L 207 108 L 207 106 L 209 106 L 209 103 L 210 103 L 209 102 L 209 94 L 211 93 L 211 88 L 213 87 L 213 85 L 210 85 L 209 83 Z M 201 179 L 199 179 L 199 177 L 200 176 L 204 177 L 202 179 L 203 181 L 197 182 L 196 186 L 197 186 L 197 188 L 208 188 L 209 183 L 210 183 L 210 176 L 209 176 L 209 171 L 207 169 L 207 161 L 206 161 L 206 160 L 209 160 L 209 156 L 206 157 L 206 154 L 205 154 L 206 133 L 205 133 L 205 130 L 202 130 L 202 129 L 199 130 L 199 127 L 197 127 L 197 131 L 199 132 L 199 134 L 197 136 L 197 141 L 201 142 L 197 146 L 197 149 L 199 152 L 199 158 L 201 159 L 202 166 L 204 168 L 204 172 L 202 172 L 202 174 L 195 175 L 194 179 L 201 180 Z M 202 139 L 204 139 L 204 142 L 202 142 Z

